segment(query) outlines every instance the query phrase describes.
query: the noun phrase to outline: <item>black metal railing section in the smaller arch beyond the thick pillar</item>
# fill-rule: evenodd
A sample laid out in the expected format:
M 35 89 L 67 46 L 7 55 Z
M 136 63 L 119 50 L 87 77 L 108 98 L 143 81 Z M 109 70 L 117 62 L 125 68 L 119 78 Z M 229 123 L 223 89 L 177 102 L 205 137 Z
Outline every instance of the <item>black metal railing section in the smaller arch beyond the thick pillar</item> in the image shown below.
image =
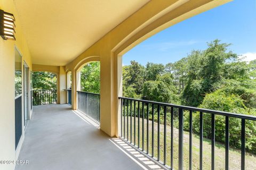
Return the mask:
M 77 109 L 100 123 L 100 94 L 77 91 Z

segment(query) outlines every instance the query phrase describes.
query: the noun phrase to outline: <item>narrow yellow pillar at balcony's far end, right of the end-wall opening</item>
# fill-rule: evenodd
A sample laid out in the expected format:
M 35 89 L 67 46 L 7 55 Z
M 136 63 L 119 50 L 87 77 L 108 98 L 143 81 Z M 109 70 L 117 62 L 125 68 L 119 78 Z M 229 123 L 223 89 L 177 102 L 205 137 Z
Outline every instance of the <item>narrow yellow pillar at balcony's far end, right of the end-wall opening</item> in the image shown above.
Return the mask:
M 60 75 L 59 75 L 59 90 L 60 90 L 60 104 L 67 103 L 67 92 L 63 89 L 66 89 L 66 73 L 65 66 L 60 66 Z

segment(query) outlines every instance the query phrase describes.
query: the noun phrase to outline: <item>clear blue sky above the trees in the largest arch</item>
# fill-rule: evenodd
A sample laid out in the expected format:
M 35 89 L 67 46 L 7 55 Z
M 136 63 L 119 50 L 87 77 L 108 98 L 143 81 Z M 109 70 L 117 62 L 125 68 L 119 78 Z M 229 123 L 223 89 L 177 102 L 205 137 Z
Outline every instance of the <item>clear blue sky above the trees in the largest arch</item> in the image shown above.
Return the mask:
M 235 0 L 175 24 L 124 54 L 123 65 L 175 62 L 214 39 L 231 43 L 229 49 L 249 61 L 256 59 L 256 0 Z

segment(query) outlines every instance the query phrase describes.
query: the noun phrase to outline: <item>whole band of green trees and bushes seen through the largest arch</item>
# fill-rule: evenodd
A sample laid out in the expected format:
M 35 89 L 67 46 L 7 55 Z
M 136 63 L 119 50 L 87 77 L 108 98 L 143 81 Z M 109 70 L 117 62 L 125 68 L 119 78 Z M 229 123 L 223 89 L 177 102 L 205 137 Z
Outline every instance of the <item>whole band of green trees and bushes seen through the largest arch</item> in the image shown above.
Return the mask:
M 214 40 L 207 44 L 205 50 L 193 50 L 187 57 L 165 66 L 154 63 L 142 66 L 132 61 L 131 65 L 123 67 L 123 95 L 256 115 L 256 60 L 244 62 L 229 47 L 230 44 Z M 135 67 L 138 65 L 139 70 Z M 163 116 L 162 111 L 160 116 Z M 256 122 L 247 122 L 246 149 L 256 153 L 253 135 Z M 241 120 L 230 117 L 229 123 L 230 145 L 239 148 Z M 186 112 L 184 124 L 188 130 L 189 116 Z M 225 142 L 225 116 L 216 115 L 215 124 L 216 140 Z M 196 112 L 193 113 L 193 130 L 199 133 L 199 113 Z M 204 137 L 211 138 L 211 114 L 204 114 Z

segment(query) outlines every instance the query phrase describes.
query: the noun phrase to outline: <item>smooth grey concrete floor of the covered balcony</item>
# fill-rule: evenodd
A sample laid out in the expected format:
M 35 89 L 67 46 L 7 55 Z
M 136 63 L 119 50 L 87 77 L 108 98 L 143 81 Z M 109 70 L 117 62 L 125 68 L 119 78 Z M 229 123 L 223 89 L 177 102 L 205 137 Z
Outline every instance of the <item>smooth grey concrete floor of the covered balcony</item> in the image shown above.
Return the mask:
M 35 106 L 18 158 L 29 164 L 15 169 L 150 169 L 95 126 L 69 105 Z

